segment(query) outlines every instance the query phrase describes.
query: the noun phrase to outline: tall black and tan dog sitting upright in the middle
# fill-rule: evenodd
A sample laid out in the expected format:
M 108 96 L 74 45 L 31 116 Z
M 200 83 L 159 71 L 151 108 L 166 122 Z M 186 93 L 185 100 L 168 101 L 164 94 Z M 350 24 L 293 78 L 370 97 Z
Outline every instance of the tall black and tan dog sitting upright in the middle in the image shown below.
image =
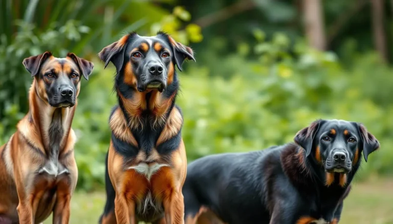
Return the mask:
M 183 223 L 182 186 L 187 159 L 183 117 L 174 105 L 186 47 L 165 33 L 130 33 L 99 54 L 117 70 L 119 106 L 110 117 L 112 139 L 106 163 L 105 210 L 101 223 Z

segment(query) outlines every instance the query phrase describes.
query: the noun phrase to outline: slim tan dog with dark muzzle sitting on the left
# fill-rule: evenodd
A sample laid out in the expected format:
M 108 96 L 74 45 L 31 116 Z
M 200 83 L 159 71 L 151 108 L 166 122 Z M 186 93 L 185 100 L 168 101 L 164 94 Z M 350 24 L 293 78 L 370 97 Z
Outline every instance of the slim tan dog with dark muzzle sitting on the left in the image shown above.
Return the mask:
M 80 80 L 93 63 L 69 53 L 26 58 L 34 77 L 29 113 L 0 147 L 0 223 L 39 223 L 53 212 L 53 223 L 67 224 L 78 170 L 71 122 Z

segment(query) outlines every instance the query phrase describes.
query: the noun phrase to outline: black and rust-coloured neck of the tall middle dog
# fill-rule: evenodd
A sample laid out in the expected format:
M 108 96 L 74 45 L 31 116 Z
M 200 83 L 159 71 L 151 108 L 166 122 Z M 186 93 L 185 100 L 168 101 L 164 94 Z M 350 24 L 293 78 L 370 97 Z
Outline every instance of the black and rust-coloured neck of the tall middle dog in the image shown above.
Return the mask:
M 139 92 L 123 82 L 115 82 L 119 106 L 124 111 L 128 127 L 132 130 L 162 128 L 174 106 L 178 81 L 174 80 L 164 92 L 150 90 Z

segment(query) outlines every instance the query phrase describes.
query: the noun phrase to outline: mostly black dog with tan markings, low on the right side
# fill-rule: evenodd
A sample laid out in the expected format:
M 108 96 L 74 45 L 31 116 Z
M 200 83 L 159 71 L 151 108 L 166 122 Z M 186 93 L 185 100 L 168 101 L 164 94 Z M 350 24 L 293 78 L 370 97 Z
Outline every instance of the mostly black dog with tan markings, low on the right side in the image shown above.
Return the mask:
M 186 224 L 338 223 L 361 154 L 367 161 L 378 140 L 363 125 L 344 120 L 317 120 L 294 140 L 189 164 Z

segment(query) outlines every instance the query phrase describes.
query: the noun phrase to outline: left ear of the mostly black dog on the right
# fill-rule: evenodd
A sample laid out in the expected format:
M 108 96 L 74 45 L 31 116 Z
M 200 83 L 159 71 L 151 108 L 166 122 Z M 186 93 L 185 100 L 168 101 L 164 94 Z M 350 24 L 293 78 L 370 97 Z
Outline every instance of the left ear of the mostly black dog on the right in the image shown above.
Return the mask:
M 306 156 L 309 156 L 311 153 L 315 134 L 317 133 L 322 122 L 323 120 L 316 120 L 312 122 L 309 127 L 300 130 L 293 139 L 296 144 L 304 148 Z

